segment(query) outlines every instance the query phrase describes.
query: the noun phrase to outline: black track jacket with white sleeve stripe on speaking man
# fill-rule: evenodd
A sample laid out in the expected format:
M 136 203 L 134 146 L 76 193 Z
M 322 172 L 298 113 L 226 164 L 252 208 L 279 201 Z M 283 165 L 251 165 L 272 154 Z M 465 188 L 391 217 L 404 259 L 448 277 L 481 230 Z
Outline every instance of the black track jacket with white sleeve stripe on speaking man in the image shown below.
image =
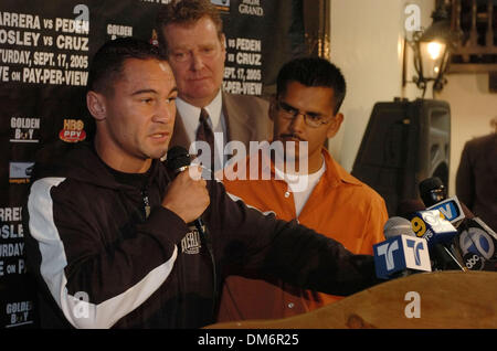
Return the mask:
M 378 283 L 372 256 L 248 208 L 218 181 L 200 237 L 161 206 L 169 181 L 156 160 L 145 189 L 121 184 L 85 143 L 36 163 L 23 221 L 42 328 L 199 328 L 215 321 L 229 274 L 335 295 Z

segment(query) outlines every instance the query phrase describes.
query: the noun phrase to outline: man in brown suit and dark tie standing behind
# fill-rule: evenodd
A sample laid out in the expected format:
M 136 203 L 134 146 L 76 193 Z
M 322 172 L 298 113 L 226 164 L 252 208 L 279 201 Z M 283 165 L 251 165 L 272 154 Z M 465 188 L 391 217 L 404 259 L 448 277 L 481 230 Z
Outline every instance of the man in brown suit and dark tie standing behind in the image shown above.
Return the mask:
M 266 100 L 222 92 L 225 36 L 220 14 L 209 0 L 172 1 L 165 6 L 157 17 L 157 32 L 179 89 L 170 146 L 189 149 L 191 142 L 204 140 L 212 147 L 209 138 L 215 135 L 214 170 L 219 170 L 229 158 L 223 152 L 228 142 L 241 141 L 248 152 L 251 140 L 271 137 Z M 203 110 L 209 115 L 207 125 Z

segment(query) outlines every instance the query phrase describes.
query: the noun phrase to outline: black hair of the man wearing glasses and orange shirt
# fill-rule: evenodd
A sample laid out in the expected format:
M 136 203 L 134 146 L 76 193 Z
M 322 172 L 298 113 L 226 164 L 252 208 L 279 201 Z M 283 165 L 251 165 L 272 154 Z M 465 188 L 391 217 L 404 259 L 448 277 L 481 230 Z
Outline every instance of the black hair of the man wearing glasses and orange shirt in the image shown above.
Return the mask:
M 286 93 L 290 82 L 298 82 L 305 86 L 332 88 L 335 93 L 334 114 L 338 113 L 346 96 L 346 81 L 340 70 L 321 57 L 298 57 L 284 64 L 276 81 L 277 97 Z

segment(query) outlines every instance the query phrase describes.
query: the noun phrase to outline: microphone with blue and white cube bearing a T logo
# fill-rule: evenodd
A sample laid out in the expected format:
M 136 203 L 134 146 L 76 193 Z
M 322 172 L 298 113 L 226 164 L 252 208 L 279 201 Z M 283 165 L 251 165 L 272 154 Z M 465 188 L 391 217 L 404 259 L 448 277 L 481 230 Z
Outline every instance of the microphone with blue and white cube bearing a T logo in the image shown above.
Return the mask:
M 373 245 L 378 278 L 392 279 L 432 270 L 426 240 L 415 236 L 408 220 L 398 216 L 388 220 L 384 236 L 384 242 Z

